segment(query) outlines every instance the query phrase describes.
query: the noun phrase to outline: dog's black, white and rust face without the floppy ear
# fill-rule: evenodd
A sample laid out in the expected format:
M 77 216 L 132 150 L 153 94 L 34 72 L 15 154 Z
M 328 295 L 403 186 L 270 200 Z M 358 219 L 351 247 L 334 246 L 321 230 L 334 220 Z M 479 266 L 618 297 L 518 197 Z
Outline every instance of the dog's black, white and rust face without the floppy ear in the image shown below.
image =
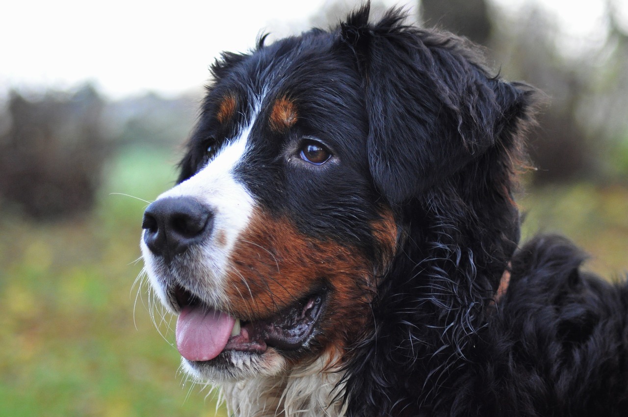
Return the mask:
M 347 48 L 312 33 L 214 71 L 180 183 L 146 210 L 141 246 L 190 369 L 241 379 L 347 347 L 397 230 L 369 176 Z

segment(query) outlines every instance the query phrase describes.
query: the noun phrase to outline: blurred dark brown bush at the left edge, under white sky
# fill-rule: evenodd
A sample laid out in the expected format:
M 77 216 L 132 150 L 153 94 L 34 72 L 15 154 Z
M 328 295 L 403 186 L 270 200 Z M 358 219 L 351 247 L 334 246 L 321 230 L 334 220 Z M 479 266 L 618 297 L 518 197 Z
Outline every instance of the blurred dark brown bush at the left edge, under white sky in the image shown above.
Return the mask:
M 106 156 L 96 90 L 48 92 L 27 99 L 11 92 L 8 129 L 0 137 L 0 198 L 35 219 L 87 212 L 94 205 Z

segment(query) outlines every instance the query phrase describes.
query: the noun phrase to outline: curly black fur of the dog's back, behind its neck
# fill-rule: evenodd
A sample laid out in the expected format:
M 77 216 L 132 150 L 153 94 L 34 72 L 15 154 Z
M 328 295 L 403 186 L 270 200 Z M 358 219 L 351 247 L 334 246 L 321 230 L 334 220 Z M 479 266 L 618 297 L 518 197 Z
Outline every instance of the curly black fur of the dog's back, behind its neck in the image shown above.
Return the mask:
M 507 404 L 535 415 L 622 415 L 617 404 L 628 404 L 628 387 L 618 381 L 628 380 L 628 284 L 587 272 L 586 259 L 553 235 L 535 237 L 513 256 L 508 291 L 480 348 L 485 367 L 479 374 L 485 372 L 486 382 L 504 381 L 485 385 L 484 406 L 490 408 L 489 398 L 501 404 L 495 415 L 514 415 Z

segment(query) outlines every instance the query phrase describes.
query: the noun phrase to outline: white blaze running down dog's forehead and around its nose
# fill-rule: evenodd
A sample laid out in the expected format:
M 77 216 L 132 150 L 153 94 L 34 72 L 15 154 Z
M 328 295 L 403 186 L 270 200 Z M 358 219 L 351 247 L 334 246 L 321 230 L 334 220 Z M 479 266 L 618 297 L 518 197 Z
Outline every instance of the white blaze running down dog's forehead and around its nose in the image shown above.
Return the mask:
M 237 180 L 234 168 L 249 150 L 249 134 L 256 116 L 257 111 L 253 112 L 251 122 L 242 129 L 241 134 L 222 146 L 207 166 L 158 197 L 191 197 L 212 210 L 212 232 L 207 242 L 188 249 L 186 268 L 193 271 L 194 276 L 191 278 L 196 282 L 198 290 L 202 291 L 199 295 L 215 306 L 225 305 L 228 301 L 224 293 L 224 276 L 229 268 L 227 260 L 237 237 L 246 229 L 254 211 L 254 198 L 246 186 Z M 168 305 L 163 288 L 156 279 L 162 266 L 156 263 L 143 239 L 141 249 L 153 288 L 164 304 Z

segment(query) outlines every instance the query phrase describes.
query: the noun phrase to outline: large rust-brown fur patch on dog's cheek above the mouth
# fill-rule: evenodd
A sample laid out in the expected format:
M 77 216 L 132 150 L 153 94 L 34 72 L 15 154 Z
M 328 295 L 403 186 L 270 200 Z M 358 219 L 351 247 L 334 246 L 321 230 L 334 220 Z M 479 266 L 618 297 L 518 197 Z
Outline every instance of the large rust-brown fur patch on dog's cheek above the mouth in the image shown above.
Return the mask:
M 356 249 L 303 236 L 289 220 L 258 212 L 232 253 L 227 295 L 241 318 L 266 318 L 325 292 L 317 341 L 328 349 L 342 349 L 371 317 L 376 268 Z

